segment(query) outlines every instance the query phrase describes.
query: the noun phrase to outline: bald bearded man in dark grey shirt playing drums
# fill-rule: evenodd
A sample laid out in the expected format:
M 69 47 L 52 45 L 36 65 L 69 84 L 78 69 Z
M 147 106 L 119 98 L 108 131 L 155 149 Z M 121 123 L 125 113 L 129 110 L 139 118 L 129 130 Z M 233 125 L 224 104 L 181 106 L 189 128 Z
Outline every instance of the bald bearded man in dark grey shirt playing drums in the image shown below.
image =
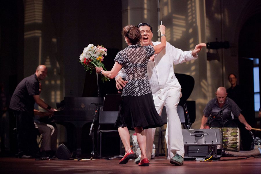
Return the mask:
M 241 109 L 232 99 L 226 96 L 226 88 L 219 87 L 216 97 L 211 99 L 203 110 L 204 115 L 201 119 L 200 129 L 209 127 L 238 127 L 233 120 L 238 119 L 250 131 L 252 127 L 240 113 Z M 231 113 L 234 118 L 232 118 Z

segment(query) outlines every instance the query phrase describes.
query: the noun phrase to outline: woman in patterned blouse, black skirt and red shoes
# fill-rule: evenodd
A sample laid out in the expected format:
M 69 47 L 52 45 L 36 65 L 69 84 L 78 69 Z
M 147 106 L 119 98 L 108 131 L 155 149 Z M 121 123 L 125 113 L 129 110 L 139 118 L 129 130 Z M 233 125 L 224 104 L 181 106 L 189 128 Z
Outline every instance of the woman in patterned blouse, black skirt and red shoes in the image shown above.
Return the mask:
M 161 127 L 164 125 L 160 115 L 157 113 L 151 93 L 151 85 L 147 75 L 149 59 L 161 52 L 166 47 L 165 26 L 160 25 L 161 44 L 157 46 L 140 46 L 141 34 L 136 26 L 128 25 L 122 30 L 128 47 L 120 51 L 114 61 L 115 64 L 110 71 L 96 67 L 96 73 L 100 73 L 110 79 L 124 67 L 128 83 L 122 90 L 122 101 L 120 111 L 115 123 L 125 148 L 125 155 L 119 164 L 126 164 L 134 158 L 130 145 L 130 133 L 135 130 L 137 141 L 141 150 L 139 166 L 148 166 L 146 157 L 146 137 L 143 129 Z M 153 59 L 153 58 L 151 58 Z

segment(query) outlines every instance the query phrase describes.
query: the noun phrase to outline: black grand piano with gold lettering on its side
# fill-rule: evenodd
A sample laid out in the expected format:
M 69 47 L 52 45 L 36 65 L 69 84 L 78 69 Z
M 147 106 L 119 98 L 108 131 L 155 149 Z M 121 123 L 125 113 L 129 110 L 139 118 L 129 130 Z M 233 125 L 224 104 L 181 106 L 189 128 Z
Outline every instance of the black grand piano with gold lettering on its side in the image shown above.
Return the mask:
M 53 122 L 66 127 L 68 148 L 73 152 L 73 156 L 81 155 L 82 130 L 86 124 L 93 122 L 98 103 L 103 104 L 102 97 L 64 97 L 61 103 L 57 103 L 59 111 L 54 113 L 52 119 Z M 97 106 L 98 110 L 100 106 Z M 97 119 L 98 114 L 95 116 L 95 121 Z

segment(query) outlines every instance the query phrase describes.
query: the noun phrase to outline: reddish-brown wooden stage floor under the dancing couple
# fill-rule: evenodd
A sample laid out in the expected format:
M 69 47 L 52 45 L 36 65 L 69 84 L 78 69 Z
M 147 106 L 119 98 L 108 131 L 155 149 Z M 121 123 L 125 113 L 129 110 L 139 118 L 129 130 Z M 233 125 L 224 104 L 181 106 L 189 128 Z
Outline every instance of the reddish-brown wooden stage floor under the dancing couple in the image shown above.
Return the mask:
M 244 157 L 221 157 L 221 160 Z M 118 164 L 120 158 L 113 160 L 40 160 L 18 159 L 15 157 L 0 157 L 0 173 L 135 173 L 135 174 L 162 174 L 162 173 L 229 173 L 250 174 L 261 173 L 261 158 L 249 157 L 244 160 L 230 160 L 217 162 L 184 161 L 183 166 L 175 166 L 165 157 L 155 157 L 148 167 L 138 166 L 134 160 L 127 164 Z

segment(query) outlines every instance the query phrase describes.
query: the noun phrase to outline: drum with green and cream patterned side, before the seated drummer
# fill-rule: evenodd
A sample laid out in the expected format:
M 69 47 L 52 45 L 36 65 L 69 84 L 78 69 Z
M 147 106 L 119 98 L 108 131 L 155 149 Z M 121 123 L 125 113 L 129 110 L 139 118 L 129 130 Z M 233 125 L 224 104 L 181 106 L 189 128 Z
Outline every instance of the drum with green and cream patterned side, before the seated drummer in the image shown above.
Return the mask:
M 222 128 L 219 128 L 222 133 Z M 223 128 L 223 150 L 239 152 L 239 128 L 224 127 Z

